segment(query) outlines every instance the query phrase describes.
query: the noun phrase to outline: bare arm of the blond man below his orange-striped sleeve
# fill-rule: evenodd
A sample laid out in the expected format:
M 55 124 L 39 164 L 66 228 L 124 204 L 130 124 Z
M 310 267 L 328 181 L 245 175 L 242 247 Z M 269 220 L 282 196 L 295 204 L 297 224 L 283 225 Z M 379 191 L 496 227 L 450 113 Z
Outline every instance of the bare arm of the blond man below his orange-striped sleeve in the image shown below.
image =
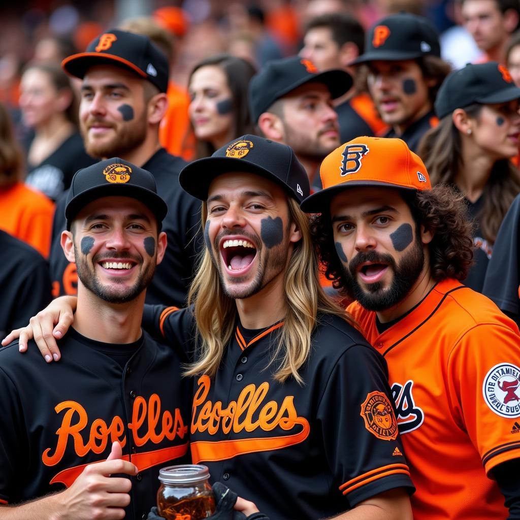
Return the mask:
M 413 520 L 408 493 L 392 489 L 360 502 L 333 520 Z

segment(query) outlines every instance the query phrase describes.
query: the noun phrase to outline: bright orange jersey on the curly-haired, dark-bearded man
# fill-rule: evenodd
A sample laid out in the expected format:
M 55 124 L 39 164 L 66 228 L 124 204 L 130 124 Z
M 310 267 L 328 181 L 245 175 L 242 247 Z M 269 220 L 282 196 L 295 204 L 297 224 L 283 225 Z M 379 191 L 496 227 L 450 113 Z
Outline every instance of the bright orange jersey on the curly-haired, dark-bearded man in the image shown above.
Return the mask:
M 508 517 L 487 474 L 520 457 L 520 332 L 482 294 L 447 279 L 392 327 L 348 306 L 388 363 L 415 520 Z

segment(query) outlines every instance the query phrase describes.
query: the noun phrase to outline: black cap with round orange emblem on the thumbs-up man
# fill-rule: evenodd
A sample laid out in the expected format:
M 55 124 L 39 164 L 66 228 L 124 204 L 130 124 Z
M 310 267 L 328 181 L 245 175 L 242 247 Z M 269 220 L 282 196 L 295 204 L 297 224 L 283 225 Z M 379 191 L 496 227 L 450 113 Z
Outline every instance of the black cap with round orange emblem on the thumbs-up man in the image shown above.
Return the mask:
M 160 225 L 168 212 L 157 194 L 153 175 L 119 157 L 100 161 L 78 170 L 70 185 L 65 207 L 67 229 L 75 216 L 90 202 L 101 197 L 131 197 L 141 201 L 157 217 Z

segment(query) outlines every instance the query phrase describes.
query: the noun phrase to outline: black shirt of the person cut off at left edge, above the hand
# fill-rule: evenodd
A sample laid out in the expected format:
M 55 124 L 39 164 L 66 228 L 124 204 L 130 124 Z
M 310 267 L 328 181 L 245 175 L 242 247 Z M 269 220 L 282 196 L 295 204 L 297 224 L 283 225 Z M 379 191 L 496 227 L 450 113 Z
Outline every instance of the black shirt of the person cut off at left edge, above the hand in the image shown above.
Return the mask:
M 24 327 L 50 302 L 49 267 L 30 245 L 0 230 L 0 337 Z

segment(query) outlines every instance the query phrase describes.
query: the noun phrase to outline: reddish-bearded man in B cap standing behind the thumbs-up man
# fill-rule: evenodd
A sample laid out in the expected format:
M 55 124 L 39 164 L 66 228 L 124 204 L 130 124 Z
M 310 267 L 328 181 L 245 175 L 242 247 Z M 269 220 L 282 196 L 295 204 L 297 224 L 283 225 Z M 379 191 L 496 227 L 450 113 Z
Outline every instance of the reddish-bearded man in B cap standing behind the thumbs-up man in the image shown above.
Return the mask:
M 150 171 L 166 201 L 163 230 L 168 237 L 164 261 L 147 291 L 147 302 L 184 305 L 199 249 L 194 238 L 200 203 L 180 189 L 178 174 L 186 165 L 161 148 L 159 123 L 166 111 L 168 63 L 149 38 L 120 30 L 101 34 L 84 53 L 62 63 L 83 80 L 80 127 L 93 157 L 121 157 Z M 50 254 L 54 295 L 75 294 L 74 264 L 63 257 L 64 200 L 57 205 Z

